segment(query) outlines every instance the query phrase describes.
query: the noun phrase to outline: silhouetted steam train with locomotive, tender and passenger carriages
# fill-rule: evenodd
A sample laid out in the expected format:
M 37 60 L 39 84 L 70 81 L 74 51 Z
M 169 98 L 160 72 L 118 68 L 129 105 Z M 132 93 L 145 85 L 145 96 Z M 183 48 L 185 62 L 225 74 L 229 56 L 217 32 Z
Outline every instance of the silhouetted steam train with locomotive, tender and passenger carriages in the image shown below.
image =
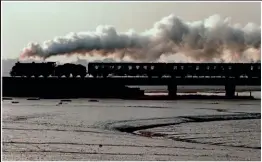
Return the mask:
M 11 69 L 12 77 L 81 77 L 94 78 L 114 76 L 188 77 L 188 76 L 226 76 L 249 78 L 261 77 L 260 63 L 105 63 L 90 62 L 86 66 L 55 62 L 20 63 Z

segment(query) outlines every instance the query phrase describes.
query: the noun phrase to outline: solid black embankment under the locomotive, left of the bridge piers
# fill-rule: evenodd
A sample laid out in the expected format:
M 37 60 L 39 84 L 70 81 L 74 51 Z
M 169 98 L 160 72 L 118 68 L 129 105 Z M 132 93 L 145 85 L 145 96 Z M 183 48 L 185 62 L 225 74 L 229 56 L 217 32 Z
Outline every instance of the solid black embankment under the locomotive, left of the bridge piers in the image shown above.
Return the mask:
M 138 88 L 64 78 L 3 78 L 4 97 L 40 98 L 134 98 L 144 95 Z

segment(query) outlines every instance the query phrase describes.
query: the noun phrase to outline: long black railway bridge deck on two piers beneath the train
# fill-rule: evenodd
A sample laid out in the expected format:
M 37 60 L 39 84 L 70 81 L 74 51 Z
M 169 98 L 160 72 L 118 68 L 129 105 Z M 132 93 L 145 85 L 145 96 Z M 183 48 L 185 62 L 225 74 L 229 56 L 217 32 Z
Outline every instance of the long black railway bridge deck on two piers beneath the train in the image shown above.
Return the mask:
M 169 96 L 175 97 L 177 86 L 225 86 L 226 96 L 233 97 L 236 86 L 260 86 L 261 80 L 257 78 L 225 78 L 225 77 L 185 77 L 185 78 L 147 78 L 147 77 L 111 77 L 111 78 L 22 78 L 22 77 L 3 77 L 3 89 L 8 91 L 14 89 L 18 91 L 21 87 L 27 87 L 27 91 L 34 87 L 39 89 L 76 89 L 76 93 L 90 88 L 101 89 L 105 91 L 109 87 L 117 89 L 119 86 L 167 86 Z M 15 88 L 16 87 L 16 88 Z M 105 88 L 106 87 L 106 88 Z M 101 92 L 103 93 L 103 92 Z M 5 93 L 3 93 L 4 95 Z

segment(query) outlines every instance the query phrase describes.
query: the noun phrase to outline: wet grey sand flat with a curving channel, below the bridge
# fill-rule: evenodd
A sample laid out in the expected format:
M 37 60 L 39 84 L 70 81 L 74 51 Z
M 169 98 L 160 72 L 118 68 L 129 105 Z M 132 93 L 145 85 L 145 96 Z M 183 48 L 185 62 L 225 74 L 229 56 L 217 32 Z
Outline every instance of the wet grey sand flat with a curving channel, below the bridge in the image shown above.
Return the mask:
M 260 160 L 260 108 L 260 100 L 13 98 L 3 101 L 3 160 Z

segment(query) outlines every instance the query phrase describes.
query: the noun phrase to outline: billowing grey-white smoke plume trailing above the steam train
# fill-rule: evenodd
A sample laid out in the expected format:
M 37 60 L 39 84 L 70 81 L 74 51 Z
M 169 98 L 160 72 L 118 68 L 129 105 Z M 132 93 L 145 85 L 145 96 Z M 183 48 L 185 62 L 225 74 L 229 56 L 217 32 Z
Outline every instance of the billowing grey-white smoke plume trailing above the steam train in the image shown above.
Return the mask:
M 252 23 L 241 27 L 219 15 L 196 22 L 170 15 L 142 33 L 98 26 L 95 32 L 30 43 L 20 58 L 80 55 L 138 62 L 260 62 L 260 28 Z

